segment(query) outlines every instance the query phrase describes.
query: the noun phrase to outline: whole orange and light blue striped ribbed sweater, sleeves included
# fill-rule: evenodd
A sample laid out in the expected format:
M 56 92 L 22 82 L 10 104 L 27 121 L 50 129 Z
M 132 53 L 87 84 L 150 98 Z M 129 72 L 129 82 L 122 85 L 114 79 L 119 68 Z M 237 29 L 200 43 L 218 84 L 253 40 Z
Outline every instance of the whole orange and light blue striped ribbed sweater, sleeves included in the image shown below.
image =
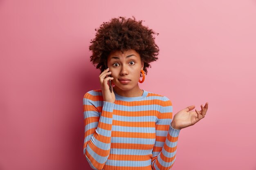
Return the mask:
M 83 154 L 94 170 L 170 170 L 180 130 L 171 127 L 173 107 L 144 90 L 140 97 L 103 101 L 101 89 L 83 97 Z

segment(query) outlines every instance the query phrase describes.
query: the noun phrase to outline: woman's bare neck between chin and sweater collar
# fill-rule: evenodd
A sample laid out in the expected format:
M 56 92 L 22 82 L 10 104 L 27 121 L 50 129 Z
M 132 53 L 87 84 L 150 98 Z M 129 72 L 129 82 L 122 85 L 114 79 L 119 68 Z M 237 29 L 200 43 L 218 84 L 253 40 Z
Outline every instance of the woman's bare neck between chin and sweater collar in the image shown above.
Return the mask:
M 123 97 L 140 97 L 143 95 L 143 90 L 139 88 L 139 85 L 135 86 L 134 88 L 130 90 L 122 90 L 118 88 L 117 86 L 113 87 L 115 92 Z

